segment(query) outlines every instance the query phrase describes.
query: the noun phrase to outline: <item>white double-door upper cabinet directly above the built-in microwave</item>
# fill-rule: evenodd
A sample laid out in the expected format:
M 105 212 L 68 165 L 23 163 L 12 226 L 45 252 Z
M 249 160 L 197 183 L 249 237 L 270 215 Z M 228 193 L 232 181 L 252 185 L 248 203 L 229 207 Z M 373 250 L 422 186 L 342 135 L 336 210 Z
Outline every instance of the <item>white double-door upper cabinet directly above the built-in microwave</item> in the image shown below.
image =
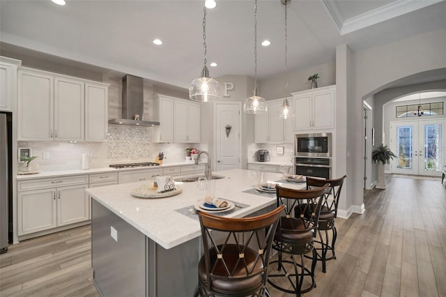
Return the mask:
M 334 128 L 336 86 L 291 93 L 298 115 L 294 130 L 322 130 Z

